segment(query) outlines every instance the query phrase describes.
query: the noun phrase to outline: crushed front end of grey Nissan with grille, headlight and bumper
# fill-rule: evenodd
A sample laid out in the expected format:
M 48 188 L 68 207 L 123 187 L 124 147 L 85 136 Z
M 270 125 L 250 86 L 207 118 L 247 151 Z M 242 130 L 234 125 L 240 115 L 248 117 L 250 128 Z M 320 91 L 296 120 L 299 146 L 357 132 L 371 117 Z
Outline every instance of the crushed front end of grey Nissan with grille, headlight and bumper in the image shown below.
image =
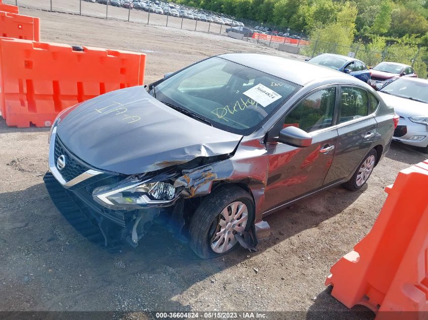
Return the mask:
M 171 221 L 178 190 L 167 182 L 173 182 L 175 170 L 129 176 L 95 169 L 64 146 L 56 127 L 49 167 L 44 181 L 58 210 L 83 236 L 110 251 L 123 243 L 137 246 L 157 217 L 181 225 Z

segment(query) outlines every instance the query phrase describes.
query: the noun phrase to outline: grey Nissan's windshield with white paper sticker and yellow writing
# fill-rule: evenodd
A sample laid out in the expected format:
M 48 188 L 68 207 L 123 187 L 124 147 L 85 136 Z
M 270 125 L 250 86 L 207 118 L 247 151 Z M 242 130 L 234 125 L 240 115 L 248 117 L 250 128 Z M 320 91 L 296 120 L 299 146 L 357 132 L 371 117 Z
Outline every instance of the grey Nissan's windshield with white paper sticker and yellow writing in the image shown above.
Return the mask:
M 159 101 L 248 135 L 289 99 L 299 85 L 219 57 L 194 64 L 154 87 Z

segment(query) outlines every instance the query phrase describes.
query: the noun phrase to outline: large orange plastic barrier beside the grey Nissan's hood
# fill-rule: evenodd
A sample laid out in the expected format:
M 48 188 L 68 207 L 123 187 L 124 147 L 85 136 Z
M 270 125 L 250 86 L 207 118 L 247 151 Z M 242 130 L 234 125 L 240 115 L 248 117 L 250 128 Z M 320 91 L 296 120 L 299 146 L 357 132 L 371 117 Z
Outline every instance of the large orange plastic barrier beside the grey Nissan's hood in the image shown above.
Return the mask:
M 50 126 L 61 110 L 141 85 L 145 54 L 0 38 L 0 107 L 9 126 Z

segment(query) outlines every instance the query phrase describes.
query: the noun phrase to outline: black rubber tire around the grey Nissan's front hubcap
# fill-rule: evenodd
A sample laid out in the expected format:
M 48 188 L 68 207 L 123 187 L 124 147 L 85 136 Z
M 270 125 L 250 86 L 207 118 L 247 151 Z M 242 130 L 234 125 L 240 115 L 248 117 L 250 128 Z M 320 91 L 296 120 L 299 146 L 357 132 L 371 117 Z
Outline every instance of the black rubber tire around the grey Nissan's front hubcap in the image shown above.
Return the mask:
M 217 224 L 220 212 L 230 203 L 241 201 L 248 209 L 248 222 L 245 230 L 248 231 L 254 220 L 254 201 L 244 189 L 226 185 L 215 189 L 205 197 L 201 205 L 194 212 L 189 227 L 190 248 L 202 259 L 211 259 L 235 250 L 239 243 L 224 253 L 216 253 L 211 248 L 213 223 Z

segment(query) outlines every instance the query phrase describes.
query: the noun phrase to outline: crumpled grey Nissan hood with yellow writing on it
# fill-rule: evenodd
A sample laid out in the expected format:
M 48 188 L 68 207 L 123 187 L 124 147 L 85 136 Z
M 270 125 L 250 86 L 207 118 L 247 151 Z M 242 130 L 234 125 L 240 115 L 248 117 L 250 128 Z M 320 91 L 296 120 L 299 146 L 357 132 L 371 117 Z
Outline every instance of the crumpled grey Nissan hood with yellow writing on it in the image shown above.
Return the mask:
M 228 154 L 242 138 L 171 109 L 142 86 L 83 102 L 61 118 L 57 134 L 69 151 L 96 168 L 124 174 Z

